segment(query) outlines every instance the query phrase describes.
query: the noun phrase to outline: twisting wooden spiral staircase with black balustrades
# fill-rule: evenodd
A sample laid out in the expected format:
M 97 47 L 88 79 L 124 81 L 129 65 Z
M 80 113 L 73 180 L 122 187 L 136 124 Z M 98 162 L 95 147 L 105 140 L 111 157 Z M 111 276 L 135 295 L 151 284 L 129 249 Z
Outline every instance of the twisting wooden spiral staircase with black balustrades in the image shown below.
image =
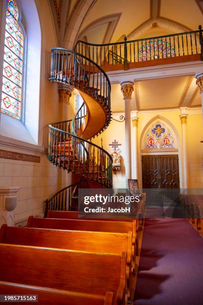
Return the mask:
M 50 81 L 76 88 L 84 103 L 72 120 L 49 125 L 48 159 L 78 177 L 78 187 L 86 180 L 86 187 L 92 187 L 94 183 L 95 188 L 111 188 L 111 155 L 92 143 L 92 138 L 101 134 L 111 120 L 110 82 L 106 73 L 80 53 L 54 48 L 51 51 Z M 49 203 L 47 208 L 65 207 L 59 202 L 54 208 L 53 200 Z

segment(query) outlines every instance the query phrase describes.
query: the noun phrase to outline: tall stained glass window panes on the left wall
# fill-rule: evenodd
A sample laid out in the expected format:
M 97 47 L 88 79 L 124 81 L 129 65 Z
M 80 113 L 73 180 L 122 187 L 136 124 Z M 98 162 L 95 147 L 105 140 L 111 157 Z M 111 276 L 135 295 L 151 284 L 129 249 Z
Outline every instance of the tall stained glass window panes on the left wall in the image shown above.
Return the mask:
M 14 2 L 14 4 L 16 4 L 17 18 L 15 18 L 15 20 L 14 20 L 14 18 L 12 18 L 12 20 L 11 20 L 11 19 L 9 19 L 7 17 L 7 14 L 9 14 L 9 10 L 7 9 L 7 3 L 9 1 L 10 2 Z M 13 15 L 11 13 L 10 13 L 10 15 L 11 15 L 11 17 L 13 17 Z M 8 31 L 8 24 L 9 24 L 9 22 L 10 23 L 12 22 L 11 25 L 14 24 L 15 27 L 13 27 L 13 28 L 16 28 L 17 30 L 18 29 L 20 30 L 20 33 L 22 35 L 22 43 L 21 44 L 20 44 L 20 42 L 21 42 L 20 39 L 19 39 L 20 42 L 18 43 L 18 39 L 17 38 L 15 39 L 15 37 L 12 36 L 11 33 L 9 33 L 9 31 Z M 11 29 L 11 27 L 10 27 L 10 29 Z M 14 31 L 13 31 L 13 33 L 15 33 L 15 36 L 18 34 L 18 32 L 16 33 Z M 18 48 L 19 51 L 17 49 L 17 51 L 19 53 L 15 54 L 9 48 L 6 47 L 5 40 L 6 40 L 6 38 L 8 38 L 7 35 L 12 36 L 13 41 L 16 41 L 16 45 L 21 46 L 21 49 L 20 49 L 20 47 Z M 14 47 L 14 43 L 13 43 L 13 47 Z M 0 113 L 8 116 L 9 118 L 16 119 L 16 120 L 21 121 L 22 123 L 24 123 L 26 34 L 25 34 L 25 30 L 24 30 L 23 24 L 21 22 L 21 7 L 20 7 L 20 4 L 19 4 L 18 0 L 5 0 L 5 27 L 4 27 L 3 67 L 7 63 L 6 60 L 5 60 L 5 50 L 7 50 L 8 54 L 9 54 L 9 52 L 10 52 L 10 54 L 13 54 L 13 57 L 16 56 L 16 59 L 17 59 L 16 62 L 19 62 L 20 56 L 18 56 L 18 55 L 20 54 L 20 51 L 22 50 L 21 65 L 20 65 L 21 79 L 17 78 L 17 72 L 16 72 L 17 71 L 17 67 L 16 66 L 14 67 L 14 65 L 12 65 L 11 62 L 8 63 L 7 67 L 10 67 L 11 69 L 13 68 L 13 75 L 14 75 L 13 77 L 15 77 L 15 81 L 12 82 L 10 79 L 7 81 L 8 83 L 12 84 L 12 86 L 14 86 L 13 88 L 10 86 L 9 89 L 10 89 L 10 91 L 12 90 L 12 93 L 11 93 L 11 95 L 8 95 L 7 92 L 4 92 L 5 91 L 5 86 L 4 86 L 4 83 L 5 83 L 5 73 L 4 73 L 4 68 L 3 68 L 2 75 L 1 75 L 2 76 L 2 78 L 1 78 L 2 79 L 2 87 L 1 87 L 1 107 L 0 107 Z M 12 61 L 12 63 L 14 63 L 14 60 Z M 18 73 L 18 76 L 19 76 L 19 73 Z M 16 90 L 16 92 L 18 91 L 17 94 L 16 94 L 17 97 L 14 95 L 14 92 L 15 92 L 15 90 L 13 92 L 14 88 L 17 88 L 17 90 Z M 19 96 L 19 98 L 18 98 L 18 96 Z M 6 99 L 6 97 L 11 100 L 10 103 L 12 102 L 12 100 L 15 100 L 15 105 L 16 106 L 17 106 L 17 103 L 19 103 L 18 111 L 16 111 L 16 108 L 15 108 L 15 113 L 13 111 L 12 112 L 8 112 L 5 109 L 6 107 L 4 107 L 4 108 L 2 107 L 3 99 L 4 98 Z M 13 107 L 15 107 L 15 106 L 13 106 Z

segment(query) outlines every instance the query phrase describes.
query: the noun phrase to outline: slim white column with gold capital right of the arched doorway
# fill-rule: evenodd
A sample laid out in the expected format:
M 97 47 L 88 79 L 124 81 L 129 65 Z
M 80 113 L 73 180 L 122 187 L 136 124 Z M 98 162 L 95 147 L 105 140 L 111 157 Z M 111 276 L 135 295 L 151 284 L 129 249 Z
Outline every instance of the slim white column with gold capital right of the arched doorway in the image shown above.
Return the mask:
M 180 108 L 183 143 L 183 188 L 188 188 L 188 149 L 187 149 L 187 108 Z

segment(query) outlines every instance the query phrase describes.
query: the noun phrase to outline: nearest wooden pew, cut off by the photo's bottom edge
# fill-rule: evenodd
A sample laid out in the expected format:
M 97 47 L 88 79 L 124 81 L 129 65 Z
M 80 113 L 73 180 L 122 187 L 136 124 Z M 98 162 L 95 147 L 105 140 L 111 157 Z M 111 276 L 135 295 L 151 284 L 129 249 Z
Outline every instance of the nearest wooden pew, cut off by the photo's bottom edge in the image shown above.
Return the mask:
M 105 293 L 104 296 L 99 296 L 3 281 L 0 281 L 0 294 L 38 295 L 37 304 L 40 305 L 113 305 L 113 293 L 110 292 Z

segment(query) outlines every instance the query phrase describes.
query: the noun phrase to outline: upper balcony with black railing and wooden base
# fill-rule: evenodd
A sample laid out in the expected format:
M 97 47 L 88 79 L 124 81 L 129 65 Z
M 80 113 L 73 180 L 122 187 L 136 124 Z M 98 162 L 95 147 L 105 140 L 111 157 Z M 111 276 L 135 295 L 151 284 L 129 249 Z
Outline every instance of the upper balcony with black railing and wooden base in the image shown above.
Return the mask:
M 92 44 L 79 40 L 75 51 L 105 72 L 165 64 L 203 61 L 203 30 L 123 42 Z

